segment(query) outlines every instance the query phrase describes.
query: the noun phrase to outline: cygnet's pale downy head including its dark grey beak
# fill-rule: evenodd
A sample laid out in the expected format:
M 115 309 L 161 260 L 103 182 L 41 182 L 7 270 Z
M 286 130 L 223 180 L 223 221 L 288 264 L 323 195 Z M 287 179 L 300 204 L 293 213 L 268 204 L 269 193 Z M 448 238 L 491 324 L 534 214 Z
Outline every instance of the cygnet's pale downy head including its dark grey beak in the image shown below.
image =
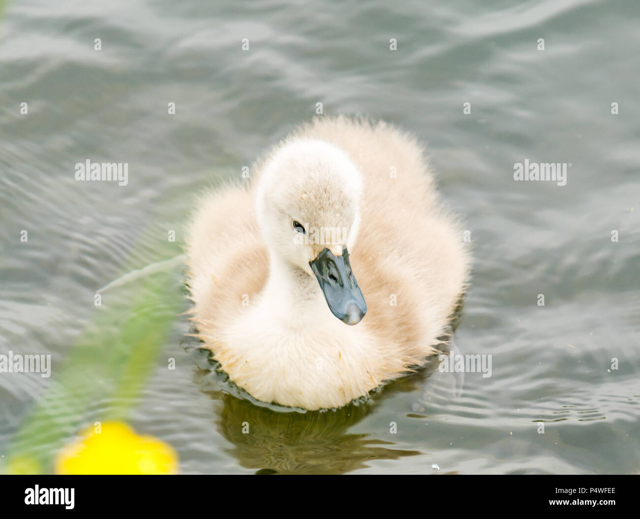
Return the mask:
M 349 156 L 315 139 L 278 146 L 257 189 L 260 231 L 273 261 L 315 276 L 333 315 L 350 325 L 367 311 L 348 252 L 358 232 L 361 192 Z

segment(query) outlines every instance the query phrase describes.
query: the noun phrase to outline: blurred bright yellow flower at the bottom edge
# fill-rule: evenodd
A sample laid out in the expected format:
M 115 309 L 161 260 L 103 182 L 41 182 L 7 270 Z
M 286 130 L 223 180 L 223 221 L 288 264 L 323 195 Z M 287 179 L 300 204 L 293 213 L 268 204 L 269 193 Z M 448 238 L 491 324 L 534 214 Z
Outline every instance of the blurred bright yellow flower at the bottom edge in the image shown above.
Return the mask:
M 54 462 L 56 474 L 175 474 L 177 470 L 178 457 L 171 445 L 137 435 L 122 422 L 86 428 Z

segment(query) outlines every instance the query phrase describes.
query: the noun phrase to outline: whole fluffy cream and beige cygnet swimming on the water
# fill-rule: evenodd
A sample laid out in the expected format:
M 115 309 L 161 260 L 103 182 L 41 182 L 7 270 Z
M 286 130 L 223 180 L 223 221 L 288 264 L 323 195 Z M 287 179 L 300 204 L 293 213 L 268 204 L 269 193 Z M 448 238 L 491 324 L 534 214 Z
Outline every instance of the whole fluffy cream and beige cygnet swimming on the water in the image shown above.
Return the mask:
M 470 260 L 414 139 L 324 118 L 256 170 L 206 194 L 189 228 L 193 320 L 230 379 L 316 410 L 424 364 Z

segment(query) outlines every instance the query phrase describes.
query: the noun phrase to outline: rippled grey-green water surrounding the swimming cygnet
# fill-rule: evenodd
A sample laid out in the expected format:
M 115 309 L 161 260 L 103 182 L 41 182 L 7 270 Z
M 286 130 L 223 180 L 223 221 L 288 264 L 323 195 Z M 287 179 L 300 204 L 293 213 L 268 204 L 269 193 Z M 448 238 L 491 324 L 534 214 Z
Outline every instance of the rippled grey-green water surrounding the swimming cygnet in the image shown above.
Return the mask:
M 40 453 L 127 408 L 183 473 L 638 472 L 639 15 L 636 0 L 8 4 L 0 353 L 50 354 L 52 369 L 0 373 L 0 454 L 25 428 L 40 441 L 39 403 L 64 417 Z M 193 196 L 238 178 L 318 102 L 428 143 L 476 257 L 454 349 L 492 355 L 492 376 L 425 370 L 336 412 L 277 412 L 238 395 L 171 317 L 186 309 L 179 267 L 150 274 L 171 273 L 177 309 L 132 297 L 140 279 L 94 306 L 123 272 L 180 254 Z M 87 159 L 127 162 L 128 185 L 77 182 Z M 566 185 L 516 182 L 525 159 L 569 164 Z M 113 374 L 133 343 L 156 359 L 147 381 L 106 391 L 89 375 Z M 82 405 L 51 407 L 63 379 L 86 384 Z

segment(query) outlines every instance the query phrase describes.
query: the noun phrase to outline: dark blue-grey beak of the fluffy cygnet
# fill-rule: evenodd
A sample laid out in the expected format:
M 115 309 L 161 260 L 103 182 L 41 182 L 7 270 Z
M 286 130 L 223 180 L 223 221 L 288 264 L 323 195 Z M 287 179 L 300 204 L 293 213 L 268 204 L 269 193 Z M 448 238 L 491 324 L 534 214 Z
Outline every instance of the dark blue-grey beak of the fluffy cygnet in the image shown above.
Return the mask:
M 348 325 L 362 321 L 367 313 L 367 303 L 351 272 L 347 247 L 342 248 L 342 256 L 334 256 L 325 248 L 315 260 L 309 261 L 309 265 L 316 274 L 331 313 Z

